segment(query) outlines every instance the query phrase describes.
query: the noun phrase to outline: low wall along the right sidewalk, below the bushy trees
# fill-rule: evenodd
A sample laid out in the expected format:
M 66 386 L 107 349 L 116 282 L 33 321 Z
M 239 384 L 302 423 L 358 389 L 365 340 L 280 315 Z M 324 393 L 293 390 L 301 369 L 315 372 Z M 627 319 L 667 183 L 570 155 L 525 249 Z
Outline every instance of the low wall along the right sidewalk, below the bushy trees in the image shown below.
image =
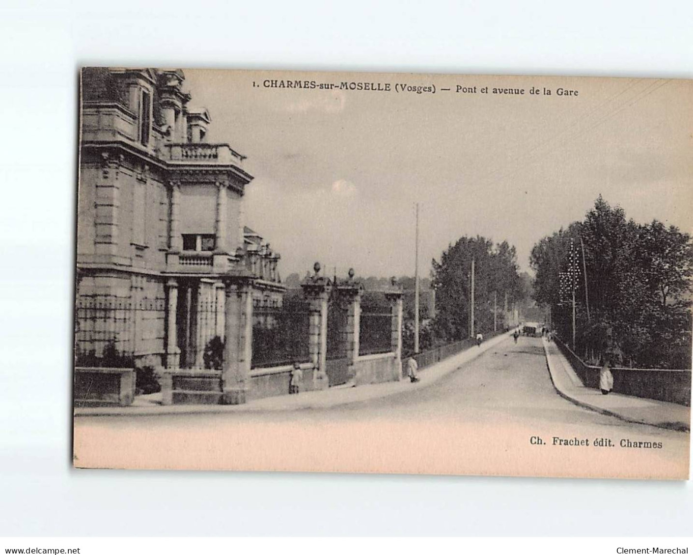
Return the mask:
M 599 389 L 600 368 L 584 363 L 568 345 L 559 339 L 555 341 L 583 385 L 586 388 Z M 615 367 L 611 369 L 611 374 L 613 374 L 613 391 L 616 393 L 685 406 L 691 404 L 690 370 Z

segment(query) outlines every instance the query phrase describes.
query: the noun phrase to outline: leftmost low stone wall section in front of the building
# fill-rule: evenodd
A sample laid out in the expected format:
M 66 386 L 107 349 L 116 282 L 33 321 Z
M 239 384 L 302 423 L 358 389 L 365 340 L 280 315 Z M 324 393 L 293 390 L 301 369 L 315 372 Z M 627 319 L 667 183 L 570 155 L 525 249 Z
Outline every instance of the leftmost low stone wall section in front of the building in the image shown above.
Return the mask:
M 134 368 L 75 368 L 74 405 L 121 407 L 134 400 Z

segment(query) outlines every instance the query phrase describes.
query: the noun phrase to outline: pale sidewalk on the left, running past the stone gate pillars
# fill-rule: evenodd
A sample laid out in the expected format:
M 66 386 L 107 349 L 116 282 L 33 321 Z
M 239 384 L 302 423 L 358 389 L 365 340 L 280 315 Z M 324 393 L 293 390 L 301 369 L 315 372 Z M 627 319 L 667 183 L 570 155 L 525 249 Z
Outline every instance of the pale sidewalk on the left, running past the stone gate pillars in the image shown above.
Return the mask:
M 421 381 L 411 383 L 408 379 L 361 385 L 358 388 L 330 388 L 324 391 L 308 391 L 298 395 L 278 395 L 248 401 L 244 405 L 154 405 L 129 407 L 82 407 L 75 408 L 75 416 L 131 416 L 131 415 L 182 415 L 210 412 L 267 412 L 281 410 L 306 410 L 331 408 L 349 403 L 359 403 L 388 397 L 403 392 L 426 388 L 444 376 L 457 370 L 464 363 L 471 361 L 483 352 L 495 347 L 509 338 L 509 334 L 500 334 L 482 343 L 480 347 L 470 347 L 444 361 L 423 368 L 419 371 Z M 137 401 L 136 401 L 137 403 Z

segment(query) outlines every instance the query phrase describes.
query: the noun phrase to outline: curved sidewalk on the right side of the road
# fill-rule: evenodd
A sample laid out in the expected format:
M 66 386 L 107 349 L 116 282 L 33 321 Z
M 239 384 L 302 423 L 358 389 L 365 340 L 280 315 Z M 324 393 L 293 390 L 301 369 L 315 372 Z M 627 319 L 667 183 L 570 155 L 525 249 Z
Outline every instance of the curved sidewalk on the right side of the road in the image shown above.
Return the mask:
M 561 397 L 577 406 L 596 410 L 635 424 L 648 424 L 669 430 L 690 431 L 690 407 L 654 399 L 642 399 L 620 393 L 603 395 L 586 388 L 555 343 L 542 338 L 546 361 L 554 388 Z

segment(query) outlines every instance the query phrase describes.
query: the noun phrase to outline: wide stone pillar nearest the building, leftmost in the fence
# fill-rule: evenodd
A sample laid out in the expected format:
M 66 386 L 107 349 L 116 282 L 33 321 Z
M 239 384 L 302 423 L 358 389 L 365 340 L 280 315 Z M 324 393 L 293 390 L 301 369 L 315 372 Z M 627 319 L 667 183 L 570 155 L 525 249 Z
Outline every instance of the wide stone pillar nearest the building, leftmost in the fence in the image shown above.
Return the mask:
M 224 363 L 222 404 L 245 403 L 250 386 L 252 361 L 253 298 L 252 279 L 226 282 Z

